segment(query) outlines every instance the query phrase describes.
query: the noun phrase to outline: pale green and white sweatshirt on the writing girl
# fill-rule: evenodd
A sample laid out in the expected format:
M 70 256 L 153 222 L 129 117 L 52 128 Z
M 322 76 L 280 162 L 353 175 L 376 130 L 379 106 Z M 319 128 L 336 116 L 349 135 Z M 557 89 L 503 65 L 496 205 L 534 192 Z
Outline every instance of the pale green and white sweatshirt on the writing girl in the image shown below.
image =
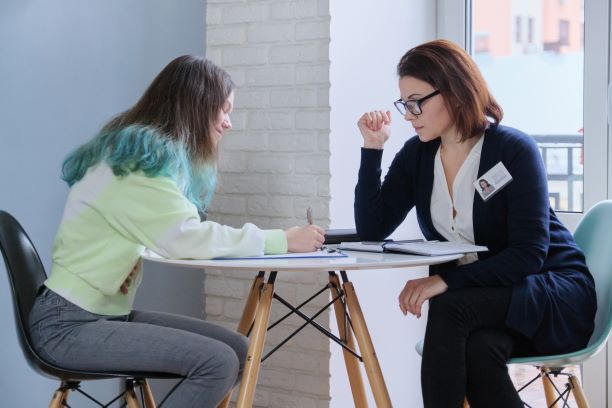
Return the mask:
M 70 190 L 45 285 L 89 312 L 128 314 L 142 273 L 127 294 L 120 287 L 145 248 L 167 258 L 211 259 L 285 253 L 287 240 L 282 230 L 200 221 L 174 180 L 141 172 L 117 177 L 102 163 Z

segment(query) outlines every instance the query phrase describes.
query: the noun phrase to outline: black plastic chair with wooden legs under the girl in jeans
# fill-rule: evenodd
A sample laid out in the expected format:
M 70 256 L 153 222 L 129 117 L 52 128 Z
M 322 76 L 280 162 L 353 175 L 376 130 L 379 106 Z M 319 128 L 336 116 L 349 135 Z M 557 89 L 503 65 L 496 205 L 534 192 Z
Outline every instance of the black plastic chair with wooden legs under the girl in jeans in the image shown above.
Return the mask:
M 32 241 L 30 241 L 30 238 L 17 220 L 5 211 L 0 211 L 0 250 L 4 257 L 6 271 L 12 290 L 15 325 L 17 326 L 17 335 L 19 337 L 21 351 L 30 367 L 36 372 L 45 377 L 61 381 L 60 387 L 53 394 L 49 408 L 69 407 L 67 399 L 71 391 L 77 391 L 83 394 L 101 407 L 108 407 L 123 397 L 125 401 L 124 406 L 127 405 L 128 408 L 139 408 L 140 403 L 135 393 L 137 387 L 140 387 L 140 399 L 144 407 L 156 408 L 153 394 L 147 383 L 147 378 L 176 379 L 181 378 L 180 376 L 156 372 L 93 372 L 66 370 L 45 361 L 36 353 L 32 347 L 28 330 L 28 316 L 34 304 L 38 289 L 47 279 L 47 275 Z M 107 404 L 102 404 L 81 390 L 81 381 L 112 378 L 123 379 L 125 381 L 125 390 Z M 170 393 L 173 390 L 174 388 Z M 160 407 L 162 404 L 163 401 Z

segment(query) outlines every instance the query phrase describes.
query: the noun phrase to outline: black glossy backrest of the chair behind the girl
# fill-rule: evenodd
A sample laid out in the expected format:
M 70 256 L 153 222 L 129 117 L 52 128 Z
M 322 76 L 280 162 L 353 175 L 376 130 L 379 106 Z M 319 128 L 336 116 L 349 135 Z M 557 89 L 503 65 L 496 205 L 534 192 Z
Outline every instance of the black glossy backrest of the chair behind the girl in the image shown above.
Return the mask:
M 31 346 L 28 316 L 36 292 L 47 275 L 32 241 L 17 220 L 5 211 L 0 211 L 0 251 L 4 257 L 13 295 L 15 325 L 21 350 L 28 364 L 40 372 L 41 361 Z

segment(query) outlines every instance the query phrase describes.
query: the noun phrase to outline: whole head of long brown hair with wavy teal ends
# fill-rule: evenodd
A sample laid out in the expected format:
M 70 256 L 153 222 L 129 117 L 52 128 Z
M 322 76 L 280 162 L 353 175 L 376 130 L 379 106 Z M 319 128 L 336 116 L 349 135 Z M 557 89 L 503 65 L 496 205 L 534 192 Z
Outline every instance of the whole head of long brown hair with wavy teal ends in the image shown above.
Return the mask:
M 72 186 L 104 161 L 116 176 L 142 171 L 149 177 L 172 177 L 204 209 L 216 184 L 212 126 L 233 88 L 229 74 L 211 61 L 175 58 L 134 106 L 66 157 L 62 179 Z

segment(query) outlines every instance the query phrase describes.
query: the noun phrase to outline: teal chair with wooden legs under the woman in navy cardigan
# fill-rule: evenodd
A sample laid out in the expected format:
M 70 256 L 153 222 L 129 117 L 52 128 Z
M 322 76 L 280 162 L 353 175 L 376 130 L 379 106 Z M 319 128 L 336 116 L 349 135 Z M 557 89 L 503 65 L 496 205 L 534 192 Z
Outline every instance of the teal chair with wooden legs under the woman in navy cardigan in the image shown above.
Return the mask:
M 582 350 L 573 353 L 548 356 L 529 356 L 511 358 L 508 364 L 526 364 L 538 367 L 544 385 L 546 402 L 555 407 L 559 401 L 567 402 L 571 391 L 579 408 L 588 408 L 586 396 L 580 383 L 571 374 L 568 376 L 568 387 L 559 392 L 550 380 L 550 375 L 559 375 L 571 365 L 582 364 L 606 346 L 612 330 L 612 201 L 602 201 L 591 208 L 582 218 L 574 232 L 574 239 L 586 256 L 587 265 L 595 279 L 597 292 L 597 314 L 595 330 L 589 344 Z M 416 351 L 423 354 L 423 341 L 419 341 Z M 555 394 L 557 392 L 557 394 Z

